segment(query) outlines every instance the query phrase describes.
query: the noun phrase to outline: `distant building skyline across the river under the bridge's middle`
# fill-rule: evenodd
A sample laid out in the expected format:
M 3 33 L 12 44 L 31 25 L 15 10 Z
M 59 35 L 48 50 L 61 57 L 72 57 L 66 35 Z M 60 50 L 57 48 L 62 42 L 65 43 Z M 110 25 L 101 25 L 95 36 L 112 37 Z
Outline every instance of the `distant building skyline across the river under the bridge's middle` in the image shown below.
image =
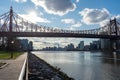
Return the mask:
M 73 43 L 69 43 L 66 46 L 60 47 L 58 46 L 47 46 L 42 49 L 35 49 L 35 50 L 43 50 L 43 51 L 80 51 L 80 50 L 102 50 L 101 47 L 101 41 L 96 40 L 92 41 L 88 45 L 84 45 L 84 41 L 79 41 L 77 45 L 74 45 Z

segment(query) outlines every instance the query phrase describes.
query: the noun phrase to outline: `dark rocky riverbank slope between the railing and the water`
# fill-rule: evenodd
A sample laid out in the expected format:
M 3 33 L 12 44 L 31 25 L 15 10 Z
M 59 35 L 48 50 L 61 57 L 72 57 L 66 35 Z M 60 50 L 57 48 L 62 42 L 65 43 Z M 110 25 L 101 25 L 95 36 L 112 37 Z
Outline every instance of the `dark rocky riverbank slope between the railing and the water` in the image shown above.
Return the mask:
M 74 80 L 34 54 L 28 54 L 29 80 Z

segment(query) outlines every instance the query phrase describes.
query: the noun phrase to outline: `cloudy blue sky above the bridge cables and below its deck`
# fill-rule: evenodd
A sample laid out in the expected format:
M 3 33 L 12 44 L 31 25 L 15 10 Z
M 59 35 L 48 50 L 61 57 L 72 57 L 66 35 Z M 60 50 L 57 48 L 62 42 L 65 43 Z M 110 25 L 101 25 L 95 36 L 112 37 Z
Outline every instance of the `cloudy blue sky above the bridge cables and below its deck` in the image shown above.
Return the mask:
M 10 6 L 21 17 L 38 25 L 68 30 L 88 30 L 103 27 L 113 17 L 120 19 L 119 0 L 1 0 L 0 15 Z M 84 40 L 89 44 L 94 39 L 86 38 L 28 38 L 34 48 L 65 46 Z

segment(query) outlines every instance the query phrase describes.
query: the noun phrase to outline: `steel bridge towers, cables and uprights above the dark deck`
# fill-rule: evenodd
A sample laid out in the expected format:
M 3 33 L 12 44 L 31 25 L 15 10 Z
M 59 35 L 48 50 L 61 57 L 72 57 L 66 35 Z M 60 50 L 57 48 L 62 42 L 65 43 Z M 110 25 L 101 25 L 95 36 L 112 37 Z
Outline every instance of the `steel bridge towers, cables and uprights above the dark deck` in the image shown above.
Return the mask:
M 51 28 L 43 25 L 34 24 L 15 12 L 12 8 L 9 12 L 0 16 L 0 33 L 3 32 L 39 32 L 39 33 L 64 33 L 64 34 L 77 34 L 77 35 L 115 35 L 120 36 L 120 23 L 114 18 L 110 22 L 100 28 L 91 30 L 65 30 L 58 28 Z

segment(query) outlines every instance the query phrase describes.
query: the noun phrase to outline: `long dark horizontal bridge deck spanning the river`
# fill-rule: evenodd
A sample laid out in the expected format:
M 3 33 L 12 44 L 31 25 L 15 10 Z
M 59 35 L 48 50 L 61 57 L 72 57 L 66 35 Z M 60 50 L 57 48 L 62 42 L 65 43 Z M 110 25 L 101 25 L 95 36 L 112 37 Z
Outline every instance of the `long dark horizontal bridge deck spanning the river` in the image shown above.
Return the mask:
M 78 33 L 49 33 L 49 32 L 0 32 L 0 37 L 70 37 L 70 38 L 104 38 L 120 39 L 116 35 L 96 35 Z

